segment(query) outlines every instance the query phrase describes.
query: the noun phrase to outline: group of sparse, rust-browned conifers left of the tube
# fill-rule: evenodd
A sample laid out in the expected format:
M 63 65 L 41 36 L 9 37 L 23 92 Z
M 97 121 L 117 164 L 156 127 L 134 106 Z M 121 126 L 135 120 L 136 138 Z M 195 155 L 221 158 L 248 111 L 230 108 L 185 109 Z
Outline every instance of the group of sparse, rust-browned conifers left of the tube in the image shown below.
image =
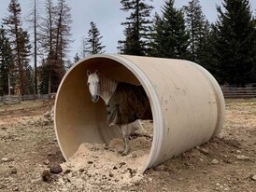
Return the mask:
M 37 95 L 38 89 L 39 93 L 56 92 L 64 76 L 71 42 L 70 7 L 65 0 L 33 0 L 31 5 L 26 17 L 30 32 L 22 26 L 18 0 L 10 0 L 8 15 L 2 19 L 0 95 L 7 94 L 8 78 L 12 93 Z

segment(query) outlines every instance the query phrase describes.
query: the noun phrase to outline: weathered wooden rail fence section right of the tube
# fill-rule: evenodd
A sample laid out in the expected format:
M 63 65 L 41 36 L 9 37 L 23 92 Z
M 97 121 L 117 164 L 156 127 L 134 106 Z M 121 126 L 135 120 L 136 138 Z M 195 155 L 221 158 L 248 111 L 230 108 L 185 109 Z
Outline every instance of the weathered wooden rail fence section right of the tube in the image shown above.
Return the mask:
M 256 87 L 232 88 L 221 87 L 224 98 L 254 98 L 256 97 Z

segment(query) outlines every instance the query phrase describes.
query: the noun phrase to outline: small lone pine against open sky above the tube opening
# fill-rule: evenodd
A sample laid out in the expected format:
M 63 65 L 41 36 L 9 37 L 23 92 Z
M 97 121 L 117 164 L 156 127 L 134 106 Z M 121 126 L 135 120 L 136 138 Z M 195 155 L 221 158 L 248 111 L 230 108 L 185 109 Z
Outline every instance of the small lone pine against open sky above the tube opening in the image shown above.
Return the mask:
M 85 47 L 83 53 L 88 55 L 92 54 L 102 54 L 105 52 L 104 48 L 106 46 L 102 46 L 102 36 L 96 26 L 96 23 L 91 22 L 91 29 L 88 32 L 88 37 L 85 38 Z

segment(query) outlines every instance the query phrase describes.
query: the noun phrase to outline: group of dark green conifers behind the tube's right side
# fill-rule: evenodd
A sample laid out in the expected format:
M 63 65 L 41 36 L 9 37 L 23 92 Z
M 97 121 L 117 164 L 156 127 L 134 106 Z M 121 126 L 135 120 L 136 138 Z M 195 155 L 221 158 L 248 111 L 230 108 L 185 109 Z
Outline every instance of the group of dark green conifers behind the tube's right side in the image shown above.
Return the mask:
M 121 0 L 129 12 L 122 54 L 176 58 L 196 62 L 220 84 L 244 87 L 256 82 L 256 20 L 249 0 L 223 0 L 218 19 L 209 23 L 199 0 L 177 8 L 164 1 L 161 13 L 152 20 L 149 1 Z

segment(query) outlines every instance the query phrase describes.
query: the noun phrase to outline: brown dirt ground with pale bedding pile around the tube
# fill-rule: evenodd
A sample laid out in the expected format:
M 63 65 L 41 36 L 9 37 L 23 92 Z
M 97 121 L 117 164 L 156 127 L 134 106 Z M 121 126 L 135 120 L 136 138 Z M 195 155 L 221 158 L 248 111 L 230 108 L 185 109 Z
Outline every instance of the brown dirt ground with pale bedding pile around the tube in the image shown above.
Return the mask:
M 143 175 L 126 164 L 123 157 L 121 163 L 115 158 L 96 161 L 103 153 L 120 156 L 111 144 L 85 144 L 88 153 L 96 154 L 91 154 L 94 159 L 86 160 L 84 166 L 74 167 L 72 160 L 64 163 L 49 114 L 50 105 L 46 101 L 0 105 L 1 192 L 256 191 L 256 99 L 226 100 L 225 124 L 219 137 Z M 150 140 L 140 137 L 134 141 Z M 127 158 L 134 159 L 133 165 L 137 156 L 132 153 Z M 111 165 L 110 173 L 97 172 L 104 169 L 100 163 L 106 165 L 110 161 L 119 163 Z M 50 173 L 53 164 L 61 164 L 63 171 Z

